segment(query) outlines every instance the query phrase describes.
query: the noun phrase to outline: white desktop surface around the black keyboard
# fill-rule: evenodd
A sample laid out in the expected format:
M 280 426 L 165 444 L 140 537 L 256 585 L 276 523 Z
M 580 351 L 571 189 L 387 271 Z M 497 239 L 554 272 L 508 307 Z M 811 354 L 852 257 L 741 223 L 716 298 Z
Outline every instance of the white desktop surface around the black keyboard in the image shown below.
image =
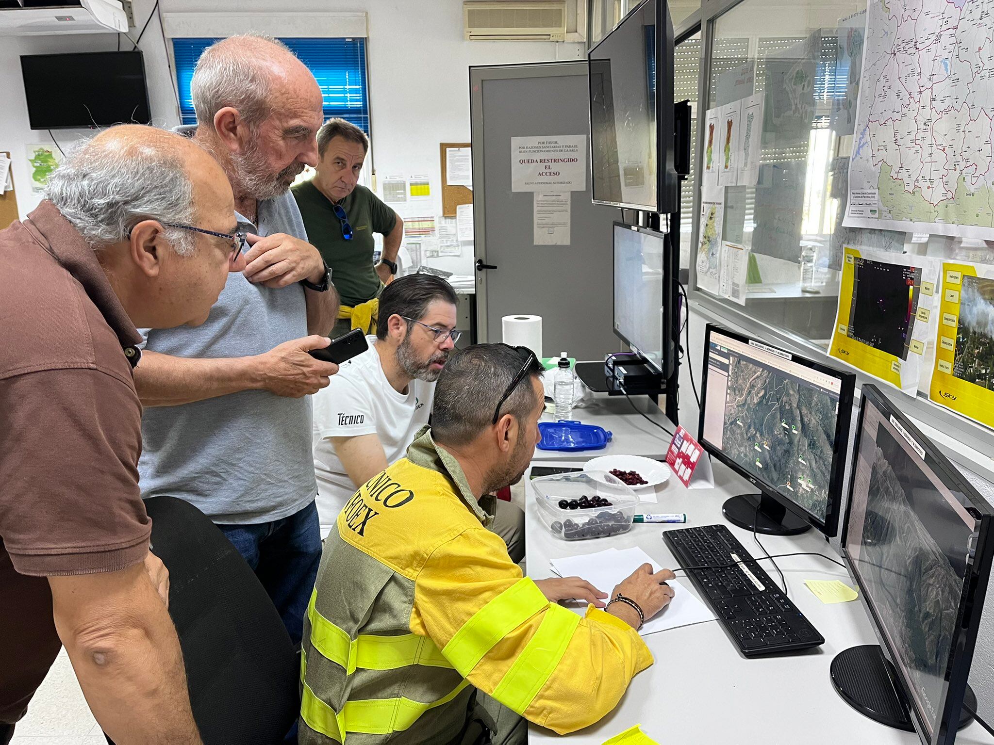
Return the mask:
M 622 450 L 619 447 L 617 452 Z M 557 464 L 536 451 L 534 465 Z M 657 488 L 659 504 L 652 505 L 651 511 L 686 513 L 691 525 L 724 522 L 722 503 L 750 490 L 744 479 L 722 464 L 715 462 L 714 470 L 715 489 L 688 490 L 671 477 Z M 549 568 L 551 558 L 610 546 L 640 546 L 662 566 L 676 563 L 661 533 L 683 525 L 635 524 L 623 535 L 567 542 L 554 538 L 540 522 L 530 483 L 525 487 L 525 502 L 527 567 L 528 574 L 536 579 L 554 576 Z M 762 554 L 751 532 L 726 524 L 753 556 Z M 772 554 L 818 551 L 835 556 L 825 537 L 813 528 L 802 535 L 766 535 L 760 540 Z M 770 562 L 760 563 L 773 581 L 778 581 Z M 746 660 L 718 621 L 644 637 L 655 665 L 634 677 L 614 711 L 573 735 L 570 742 L 599 745 L 640 723 L 643 731 L 662 745 L 918 745 L 917 735 L 863 716 L 832 687 L 829 665 L 835 655 L 856 645 L 876 644 L 877 640 L 860 601 L 824 605 L 803 582 L 841 579 L 848 583 L 846 571 L 816 556 L 790 556 L 777 559 L 777 563 L 791 600 L 825 637 L 824 645 L 799 655 Z M 699 595 L 689 578 L 681 576 L 680 580 Z M 612 588 L 598 589 L 610 592 Z M 560 740 L 551 730 L 529 727 L 530 743 Z M 990 742 L 990 735 L 976 722 L 956 737 L 957 745 Z

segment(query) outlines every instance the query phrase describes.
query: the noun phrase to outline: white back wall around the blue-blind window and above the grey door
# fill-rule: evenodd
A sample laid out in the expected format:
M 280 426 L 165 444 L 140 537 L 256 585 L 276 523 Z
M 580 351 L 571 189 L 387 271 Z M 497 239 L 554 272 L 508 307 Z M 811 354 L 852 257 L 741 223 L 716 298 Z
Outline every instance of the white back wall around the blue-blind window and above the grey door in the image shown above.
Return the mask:
M 135 0 L 137 29 L 149 17 L 153 0 Z M 581 44 L 549 42 L 465 42 L 461 0 L 161 0 L 163 13 L 210 11 L 285 13 L 366 12 L 369 16 L 368 64 L 374 166 L 377 175 L 423 175 L 431 179 L 432 201 L 428 214 L 441 211 L 441 175 L 438 144 L 469 141 L 469 76 L 471 65 L 495 65 L 580 59 Z M 264 31 L 264 29 L 260 29 Z M 63 37 L 0 37 L 0 150 L 15 159 L 14 178 L 22 217 L 38 202 L 28 190 L 26 143 L 47 143 L 47 132 L 28 128 L 24 84 L 19 57 L 48 52 L 83 52 L 115 49 L 112 34 Z M 122 38 L 122 49 L 130 44 Z M 152 19 L 141 40 L 145 53 L 149 98 L 155 123 L 178 123 L 173 77 L 159 31 Z M 57 131 L 60 143 L 82 132 Z M 379 183 L 378 183 L 379 186 Z M 468 254 L 469 249 L 464 248 Z M 469 273 L 472 256 L 432 259 L 439 268 Z

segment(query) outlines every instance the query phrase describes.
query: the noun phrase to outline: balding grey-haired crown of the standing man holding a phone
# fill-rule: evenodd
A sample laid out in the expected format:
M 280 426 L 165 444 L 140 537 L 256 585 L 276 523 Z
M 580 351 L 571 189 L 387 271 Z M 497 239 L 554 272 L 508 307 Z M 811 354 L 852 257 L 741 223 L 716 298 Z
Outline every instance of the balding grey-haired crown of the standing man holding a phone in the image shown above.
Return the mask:
M 214 115 L 233 106 L 255 127 L 269 115 L 272 74 L 256 54 L 257 42 L 266 42 L 288 55 L 290 49 L 264 34 L 242 34 L 222 39 L 208 47 L 197 61 L 190 82 L 193 108 L 201 126 L 214 127 Z

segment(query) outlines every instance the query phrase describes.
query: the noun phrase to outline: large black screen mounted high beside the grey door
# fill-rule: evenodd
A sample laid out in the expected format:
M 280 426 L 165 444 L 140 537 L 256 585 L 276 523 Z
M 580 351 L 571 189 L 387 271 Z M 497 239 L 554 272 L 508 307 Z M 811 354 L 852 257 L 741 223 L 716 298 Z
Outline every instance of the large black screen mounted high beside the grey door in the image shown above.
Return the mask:
M 594 204 L 677 211 L 673 48 L 666 0 L 645 0 L 587 53 Z

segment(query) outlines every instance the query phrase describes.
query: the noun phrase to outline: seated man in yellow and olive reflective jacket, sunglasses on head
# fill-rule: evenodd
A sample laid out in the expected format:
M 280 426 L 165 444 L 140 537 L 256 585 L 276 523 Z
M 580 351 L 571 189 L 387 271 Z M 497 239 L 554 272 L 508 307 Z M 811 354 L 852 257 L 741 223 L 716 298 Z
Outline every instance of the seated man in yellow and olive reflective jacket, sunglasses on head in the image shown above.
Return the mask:
M 430 429 L 346 504 L 304 620 L 302 745 L 516 743 L 521 716 L 571 732 L 652 664 L 637 629 L 669 602 L 672 572 L 643 565 L 598 610 L 606 595 L 578 577 L 522 577 L 486 529 L 486 495 L 535 452 L 541 373 L 521 347 L 454 356 Z M 569 598 L 590 602 L 584 618 L 557 604 Z

